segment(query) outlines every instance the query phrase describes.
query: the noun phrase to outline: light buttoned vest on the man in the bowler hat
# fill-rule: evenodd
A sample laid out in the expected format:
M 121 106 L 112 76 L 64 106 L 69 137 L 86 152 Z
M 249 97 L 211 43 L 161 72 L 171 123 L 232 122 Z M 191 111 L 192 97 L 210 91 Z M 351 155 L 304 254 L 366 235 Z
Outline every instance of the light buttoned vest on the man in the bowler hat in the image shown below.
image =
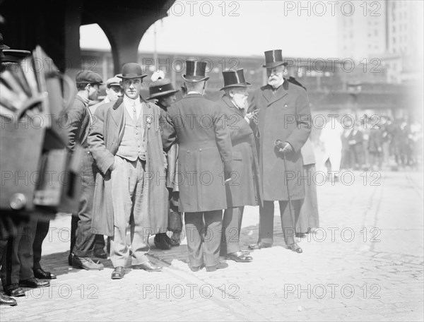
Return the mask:
M 141 106 L 143 108 L 143 106 Z M 134 121 L 124 108 L 124 136 L 117 150 L 117 155 L 129 161 L 146 160 L 146 147 L 144 142 L 143 113 Z

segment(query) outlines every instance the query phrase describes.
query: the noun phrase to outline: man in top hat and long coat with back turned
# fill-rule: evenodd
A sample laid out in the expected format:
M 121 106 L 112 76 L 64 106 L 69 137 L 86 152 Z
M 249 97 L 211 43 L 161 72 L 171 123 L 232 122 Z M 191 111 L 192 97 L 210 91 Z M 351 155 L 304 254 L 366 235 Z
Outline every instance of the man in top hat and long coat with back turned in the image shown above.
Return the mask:
M 203 97 L 208 77 L 206 63 L 186 61 L 183 76 L 187 95 L 168 108 L 163 126 L 163 144 L 179 143 L 179 211 L 184 212 L 190 266 L 214 271 L 219 263 L 222 210 L 227 208 L 225 180 L 231 173 L 230 133 L 216 103 Z

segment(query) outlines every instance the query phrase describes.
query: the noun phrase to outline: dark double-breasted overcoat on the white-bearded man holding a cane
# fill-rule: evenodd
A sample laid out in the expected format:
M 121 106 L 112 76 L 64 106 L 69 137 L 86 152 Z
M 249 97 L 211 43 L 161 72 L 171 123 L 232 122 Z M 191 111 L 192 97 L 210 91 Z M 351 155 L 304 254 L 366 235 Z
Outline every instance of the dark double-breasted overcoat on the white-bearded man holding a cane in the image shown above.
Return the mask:
M 302 154 L 311 131 L 310 103 L 306 90 L 284 81 L 275 93 L 270 85 L 256 90 L 250 99 L 249 112 L 259 109 L 259 124 L 255 134 L 259 136 L 259 168 L 261 193 L 266 201 L 288 200 L 288 190 L 292 200 L 305 196 L 302 175 Z M 279 139 L 287 141 L 293 152 L 283 156 L 274 146 Z M 284 174 L 287 172 L 288 187 Z

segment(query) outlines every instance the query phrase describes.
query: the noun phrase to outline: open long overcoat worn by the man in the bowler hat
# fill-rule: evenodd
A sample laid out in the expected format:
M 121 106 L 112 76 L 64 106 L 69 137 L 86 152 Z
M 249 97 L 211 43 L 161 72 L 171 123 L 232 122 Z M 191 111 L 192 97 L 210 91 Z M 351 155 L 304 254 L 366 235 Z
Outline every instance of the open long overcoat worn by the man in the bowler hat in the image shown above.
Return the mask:
M 142 102 L 143 99 L 141 98 Z M 143 227 L 155 232 L 167 230 L 167 189 L 165 157 L 160 134 L 160 108 L 152 103 L 143 104 L 144 139 L 146 143 L 146 179 L 148 213 L 143 214 Z M 90 153 L 100 170 L 95 179 L 93 220 L 96 234 L 113 236 L 112 181 L 110 166 L 124 135 L 124 104 L 120 98 L 100 105 L 88 134 Z

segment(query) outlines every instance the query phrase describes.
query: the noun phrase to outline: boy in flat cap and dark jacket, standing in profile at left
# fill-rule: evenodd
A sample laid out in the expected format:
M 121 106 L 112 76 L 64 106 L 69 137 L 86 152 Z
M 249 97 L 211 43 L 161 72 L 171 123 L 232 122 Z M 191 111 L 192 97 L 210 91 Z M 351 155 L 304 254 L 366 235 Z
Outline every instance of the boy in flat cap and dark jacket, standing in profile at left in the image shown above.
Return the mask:
M 76 94 L 73 104 L 66 109 L 67 124 L 69 126 L 70 150 L 75 148 L 76 144 L 81 145 L 85 150 L 81 169 L 82 192 L 78 208 L 78 218 L 73 217 L 73 226 L 76 227 L 75 239 L 71 236 L 71 254 L 69 262 L 74 268 L 83 268 L 86 270 L 102 270 L 102 263 L 93 261 L 93 250 L 95 246 L 95 232 L 91 229 L 91 220 L 93 215 L 93 195 L 94 195 L 94 167 L 93 156 L 88 150 L 88 131 L 90 123 L 93 122 L 93 115 L 88 109 L 90 100 L 98 97 L 102 84 L 102 78 L 93 71 L 81 71 L 76 75 Z M 75 244 L 73 244 L 73 240 Z

